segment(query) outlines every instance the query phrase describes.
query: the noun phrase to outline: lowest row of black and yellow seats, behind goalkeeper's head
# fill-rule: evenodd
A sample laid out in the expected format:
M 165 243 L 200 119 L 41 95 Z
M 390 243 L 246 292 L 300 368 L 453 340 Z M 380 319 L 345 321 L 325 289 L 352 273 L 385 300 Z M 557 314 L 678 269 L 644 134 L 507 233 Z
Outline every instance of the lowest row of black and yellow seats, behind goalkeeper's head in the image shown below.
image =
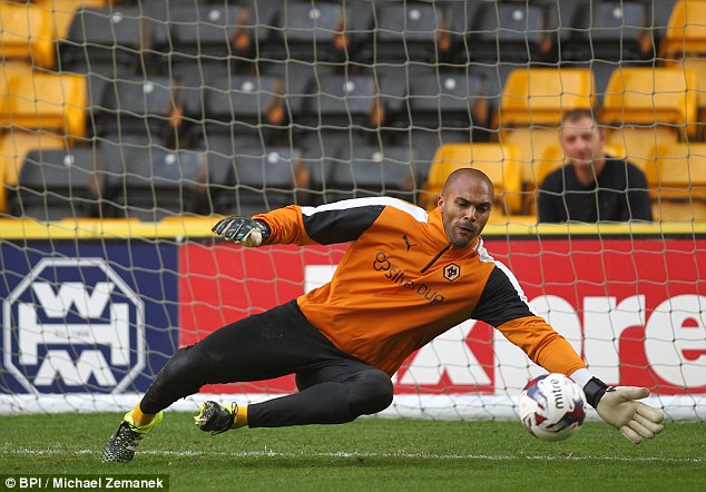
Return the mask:
M 626 157 L 615 147 L 607 150 Z M 706 218 L 706 144 L 658 145 L 649 154 L 639 165 L 647 176 L 656 217 Z M 320 205 L 380 195 L 416 200 L 432 209 L 447 176 L 461 167 L 474 167 L 496 185 L 496 215 L 517 217 L 533 213 L 538 185 L 565 161 L 559 149 L 547 149 L 533 164 L 522 163 L 519 155 L 514 145 L 444 145 L 435 152 L 429 181 L 418 189 L 410 149 L 402 147 L 340 149 L 329 159 L 312 159 L 291 147 L 244 148 L 235 159 L 213 151 L 110 145 L 33 150 L 9 194 L 9 215 L 41 220 L 249 216 L 288 204 Z M 522 183 L 528 174 L 524 168 L 533 176 L 531 187 Z

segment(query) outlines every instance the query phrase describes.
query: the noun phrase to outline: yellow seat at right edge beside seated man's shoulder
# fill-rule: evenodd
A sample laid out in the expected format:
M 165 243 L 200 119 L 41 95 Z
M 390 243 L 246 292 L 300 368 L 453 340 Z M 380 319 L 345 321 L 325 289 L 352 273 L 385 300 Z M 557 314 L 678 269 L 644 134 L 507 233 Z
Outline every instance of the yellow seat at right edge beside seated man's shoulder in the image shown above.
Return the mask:
M 706 220 L 706 142 L 658 145 L 645 174 L 660 220 Z

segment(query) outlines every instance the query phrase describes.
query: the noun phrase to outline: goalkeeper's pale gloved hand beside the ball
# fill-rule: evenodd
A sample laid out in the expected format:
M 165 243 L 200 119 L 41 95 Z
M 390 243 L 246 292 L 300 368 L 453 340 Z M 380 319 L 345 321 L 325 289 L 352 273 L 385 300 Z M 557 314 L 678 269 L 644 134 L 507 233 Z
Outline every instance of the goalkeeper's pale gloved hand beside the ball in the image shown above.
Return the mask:
M 653 439 L 664 429 L 661 425 L 664 413 L 637 401 L 647 396 L 649 396 L 649 390 L 646 387 L 610 387 L 598 402 L 596 412 L 604 421 L 618 429 L 633 444 L 639 444 L 643 439 Z

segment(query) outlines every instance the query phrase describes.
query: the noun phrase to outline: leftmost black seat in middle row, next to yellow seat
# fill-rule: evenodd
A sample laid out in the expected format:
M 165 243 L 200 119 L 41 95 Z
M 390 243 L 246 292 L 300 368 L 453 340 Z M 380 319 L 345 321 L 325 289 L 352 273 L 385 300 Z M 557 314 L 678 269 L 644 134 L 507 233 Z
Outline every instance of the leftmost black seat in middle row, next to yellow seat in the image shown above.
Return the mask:
M 104 89 L 91 122 L 95 134 L 107 139 L 165 144 L 178 130 L 180 114 L 170 79 L 120 79 Z

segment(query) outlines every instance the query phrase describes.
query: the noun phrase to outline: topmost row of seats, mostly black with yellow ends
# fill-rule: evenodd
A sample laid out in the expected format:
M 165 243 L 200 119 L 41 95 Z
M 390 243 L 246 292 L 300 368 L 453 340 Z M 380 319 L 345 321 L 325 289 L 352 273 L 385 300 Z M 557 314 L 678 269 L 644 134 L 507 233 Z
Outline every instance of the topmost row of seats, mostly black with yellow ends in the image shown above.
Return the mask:
M 700 2 L 676 0 L 106 3 L 2 2 L 0 18 L 12 26 L 2 31 L 3 56 L 99 73 L 124 73 L 145 63 L 229 66 L 255 59 L 458 65 L 622 61 L 654 58 L 660 41 L 663 51 L 689 49 L 692 38 L 679 35 L 690 33 L 706 16 Z M 669 22 L 667 9 L 671 9 Z M 682 24 L 676 32 L 671 28 L 686 18 L 683 10 L 688 10 L 689 27 Z

